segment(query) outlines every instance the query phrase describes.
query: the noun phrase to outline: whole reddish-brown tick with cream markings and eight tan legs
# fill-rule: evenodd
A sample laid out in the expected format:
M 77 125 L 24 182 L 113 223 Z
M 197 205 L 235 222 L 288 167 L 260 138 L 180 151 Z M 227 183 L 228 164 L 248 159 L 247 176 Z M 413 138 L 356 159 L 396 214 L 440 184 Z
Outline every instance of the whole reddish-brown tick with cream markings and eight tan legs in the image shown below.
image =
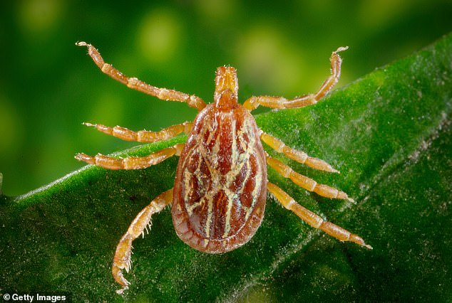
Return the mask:
M 137 78 L 128 78 L 112 65 L 105 63 L 101 54 L 88 43 L 78 42 L 78 46 L 88 47 L 88 54 L 103 73 L 128 87 L 158 97 L 161 100 L 185 102 L 198 110 L 194 122 L 173 125 L 160 132 L 133 132 L 123 127 L 107 127 L 102 124 L 85 123 L 101 132 L 120 139 L 136 142 L 158 142 L 185 132 L 185 144 L 175 144 L 143 157 L 116 159 L 97 154 L 88 156 L 76 154 L 76 159 L 95 164 L 106 169 L 144 169 L 160 163 L 170 156 L 179 156 L 174 187 L 154 198 L 140 211 L 130 227 L 120 239 L 113 259 L 112 273 L 116 282 L 128 289 L 130 283 L 123 277 L 123 270 L 130 270 L 132 241 L 150 224 L 150 218 L 171 204 L 175 232 L 183 242 L 192 248 L 208 253 L 222 253 L 235 250 L 247 243 L 264 217 L 267 191 L 284 208 L 295 213 L 314 228 L 324 230 L 341 241 L 351 241 L 371 249 L 364 240 L 329 223 L 307 208 L 300 206 L 292 197 L 267 180 L 267 165 L 282 176 L 291 179 L 298 186 L 314 191 L 327 198 L 346 199 L 354 202 L 346 193 L 293 171 L 282 161 L 272 158 L 262 148 L 262 142 L 275 151 L 294 161 L 314 169 L 339 172 L 327 162 L 308 156 L 304 151 L 287 147 L 279 139 L 262 132 L 251 111 L 259 105 L 284 109 L 304 107 L 317 103 L 332 90 L 341 73 L 339 52 L 330 57 L 332 75 L 314 94 L 286 99 L 284 97 L 255 96 L 237 102 L 238 81 L 235 68 L 217 68 L 215 94 L 212 103 L 195 95 L 175 90 L 158 88 L 143 83 Z

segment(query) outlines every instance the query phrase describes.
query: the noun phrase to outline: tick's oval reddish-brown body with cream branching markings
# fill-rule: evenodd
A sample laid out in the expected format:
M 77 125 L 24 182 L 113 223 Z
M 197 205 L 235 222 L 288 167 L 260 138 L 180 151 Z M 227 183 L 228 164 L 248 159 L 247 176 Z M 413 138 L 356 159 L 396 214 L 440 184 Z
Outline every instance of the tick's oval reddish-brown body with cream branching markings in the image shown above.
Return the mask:
M 196 117 L 180 155 L 173 191 L 179 238 L 204 252 L 234 250 L 264 216 L 267 168 L 259 130 L 248 110 L 210 104 Z

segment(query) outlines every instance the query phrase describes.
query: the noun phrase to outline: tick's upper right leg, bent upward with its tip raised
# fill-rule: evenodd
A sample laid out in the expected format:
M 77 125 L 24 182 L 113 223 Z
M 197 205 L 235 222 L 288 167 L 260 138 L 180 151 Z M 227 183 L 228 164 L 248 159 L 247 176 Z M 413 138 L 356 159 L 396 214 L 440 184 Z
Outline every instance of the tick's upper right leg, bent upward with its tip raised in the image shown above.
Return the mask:
M 255 110 L 259 105 L 263 105 L 271 108 L 292 108 L 292 107 L 304 107 L 306 105 L 312 105 L 317 103 L 322 97 L 332 90 L 333 86 L 339 80 L 341 75 L 341 57 L 339 52 L 346 50 L 348 47 L 340 47 L 334 51 L 329 58 L 331 61 L 332 75 L 322 84 L 319 90 L 314 94 L 304 95 L 302 97 L 296 97 L 291 100 L 287 100 L 284 97 L 272 97 L 272 96 L 253 96 L 245 101 L 243 106 L 248 110 Z

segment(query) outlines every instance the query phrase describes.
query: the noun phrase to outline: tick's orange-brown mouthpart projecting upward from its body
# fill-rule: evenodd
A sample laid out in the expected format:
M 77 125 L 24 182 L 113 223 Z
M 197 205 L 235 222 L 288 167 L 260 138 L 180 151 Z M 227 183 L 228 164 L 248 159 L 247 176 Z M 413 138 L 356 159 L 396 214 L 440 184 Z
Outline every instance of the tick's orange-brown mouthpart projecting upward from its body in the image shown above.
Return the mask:
M 230 66 L 217 68 L 215 77 L 215 106 L 220 110 L 230 110 L 237 105 L 239 83 L 237 70 Z

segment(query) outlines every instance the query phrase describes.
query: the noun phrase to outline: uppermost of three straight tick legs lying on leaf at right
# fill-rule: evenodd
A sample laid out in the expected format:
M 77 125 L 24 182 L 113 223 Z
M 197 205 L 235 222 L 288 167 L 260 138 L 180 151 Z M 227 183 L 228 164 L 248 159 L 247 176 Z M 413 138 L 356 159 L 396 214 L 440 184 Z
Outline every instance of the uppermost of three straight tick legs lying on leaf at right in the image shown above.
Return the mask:
M 308 156 L 304 151 L 299 151 L 297 149 L 287 147 L 284 142 L 277 139 L 276 137 L 262 132 L 260 139 L 262 139 L 263 142 L 267 143 L 269 147 L 272 147 L 272 149 L 274 149 L 275 151 L 284 154 L 294 161 L 297 161 L 301 164 L 306 164 L 307 166 L 310 166 L 313 169 L 319 169 L 320 171 L 339 173 L 339 171 L 333 169 L 332 166 L 327 162 L 318 158 L 314 158 L 312 156 Z

